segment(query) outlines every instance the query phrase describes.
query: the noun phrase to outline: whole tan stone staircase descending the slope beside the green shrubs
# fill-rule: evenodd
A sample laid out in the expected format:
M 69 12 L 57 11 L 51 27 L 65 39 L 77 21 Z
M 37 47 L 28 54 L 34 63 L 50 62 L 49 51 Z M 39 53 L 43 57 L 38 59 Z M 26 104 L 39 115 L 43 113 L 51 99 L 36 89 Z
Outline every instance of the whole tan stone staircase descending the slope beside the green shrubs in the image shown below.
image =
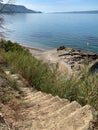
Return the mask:
M 9 74 L 6 72 L 6 74 Z M 16 78 L 10 75 L 11 78 Z M 18 79 L 18 78 L 16 78 Z M 19 83 L 19 79 L 17 80 Z M 25 96 L 13 130 L 88 130 L 93 120 L 89 105 L 69 102 L 33 88 L 23 87 Z M 22 119 L 20 119 L 22 117 Z

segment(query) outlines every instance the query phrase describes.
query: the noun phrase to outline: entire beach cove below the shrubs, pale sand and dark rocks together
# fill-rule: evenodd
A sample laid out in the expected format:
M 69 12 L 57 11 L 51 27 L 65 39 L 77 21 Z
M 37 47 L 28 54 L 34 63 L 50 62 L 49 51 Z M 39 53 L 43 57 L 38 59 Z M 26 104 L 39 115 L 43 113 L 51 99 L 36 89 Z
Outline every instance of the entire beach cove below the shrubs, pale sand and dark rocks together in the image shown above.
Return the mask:
M 42 50 L 27 46 L 26 48 L 29 49 L 32 56 L 42 60 L 44 63 L 48 63 L 50 66 L 58 63 L 58 70 L 61 72 L 68 72 L 69 74 L 81 70 L 85 66 L 86 60 L 88 60 L 88 66 L 90 67 L 98 62 L 97 54 L 83 50 L 72 48 Z

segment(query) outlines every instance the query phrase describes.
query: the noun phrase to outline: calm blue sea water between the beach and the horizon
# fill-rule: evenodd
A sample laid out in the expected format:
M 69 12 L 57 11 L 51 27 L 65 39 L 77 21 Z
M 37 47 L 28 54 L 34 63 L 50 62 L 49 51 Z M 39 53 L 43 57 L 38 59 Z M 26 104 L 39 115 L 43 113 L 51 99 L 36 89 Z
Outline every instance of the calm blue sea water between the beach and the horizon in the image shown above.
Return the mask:
M 5 15 L 7 38 L 52 49 L 65 45 L 98 53 L 98 14 Z

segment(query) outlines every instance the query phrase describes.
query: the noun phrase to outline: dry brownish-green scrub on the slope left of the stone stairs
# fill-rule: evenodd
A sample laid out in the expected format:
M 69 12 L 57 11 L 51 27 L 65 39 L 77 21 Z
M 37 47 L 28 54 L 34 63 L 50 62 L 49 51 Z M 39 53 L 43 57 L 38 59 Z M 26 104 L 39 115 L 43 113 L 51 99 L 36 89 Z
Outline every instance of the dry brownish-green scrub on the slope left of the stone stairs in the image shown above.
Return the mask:
M 18 88 L 18 84 L 10 80 L 0 66 L 0 104 L 9 104 L 14 109 L 21 103 L 20 92 L 21 90 Z

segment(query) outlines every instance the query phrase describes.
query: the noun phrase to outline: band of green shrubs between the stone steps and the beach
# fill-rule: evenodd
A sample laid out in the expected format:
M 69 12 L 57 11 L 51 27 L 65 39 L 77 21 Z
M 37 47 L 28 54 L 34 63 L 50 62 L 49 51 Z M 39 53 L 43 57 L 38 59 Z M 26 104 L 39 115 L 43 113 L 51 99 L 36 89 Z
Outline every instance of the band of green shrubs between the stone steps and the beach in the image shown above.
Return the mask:
M 77 100 L 82 105 L 90 104 L 98 111 L 98 74 L 89 74 L 85 69 L 67 78 L 66 74 L 60 76 L 57 66 L 49 68 L 17 43 L 2 40 L 0 48 L 6 65 L 10 65 L 12 72 L 21 74 L 32 87 L 70 101 Z

